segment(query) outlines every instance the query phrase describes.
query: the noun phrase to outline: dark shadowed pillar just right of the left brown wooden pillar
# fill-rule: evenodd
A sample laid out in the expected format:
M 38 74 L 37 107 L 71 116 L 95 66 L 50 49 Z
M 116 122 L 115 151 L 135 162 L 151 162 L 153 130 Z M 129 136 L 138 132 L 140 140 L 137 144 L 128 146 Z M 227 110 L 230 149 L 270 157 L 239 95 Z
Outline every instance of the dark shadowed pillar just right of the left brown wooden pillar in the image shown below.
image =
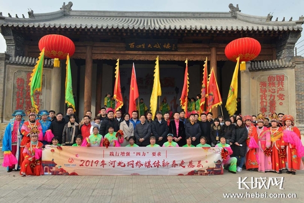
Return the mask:
M 96 74 L 96 104 L 95 104 L 95 114 L 97 115 L 101 109 L 102 101 L 102 60 L 97 60 L 97 74 Z

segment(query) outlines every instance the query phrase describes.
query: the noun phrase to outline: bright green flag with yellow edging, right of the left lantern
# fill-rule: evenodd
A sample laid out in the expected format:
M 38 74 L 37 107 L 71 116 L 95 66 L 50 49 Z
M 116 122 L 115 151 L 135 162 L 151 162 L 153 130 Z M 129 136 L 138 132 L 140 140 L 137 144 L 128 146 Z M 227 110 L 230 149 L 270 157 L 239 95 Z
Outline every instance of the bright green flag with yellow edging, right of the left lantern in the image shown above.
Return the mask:
M 71 65 L 70 65 L 70 57 L 67 55 L 67 73 L 65 77 L 65 103 L 68 106 L 73 107 L 75 112 L 75 101 L 73 96 L 73 87 L 72 87 L 72 74 L 71 74 Z

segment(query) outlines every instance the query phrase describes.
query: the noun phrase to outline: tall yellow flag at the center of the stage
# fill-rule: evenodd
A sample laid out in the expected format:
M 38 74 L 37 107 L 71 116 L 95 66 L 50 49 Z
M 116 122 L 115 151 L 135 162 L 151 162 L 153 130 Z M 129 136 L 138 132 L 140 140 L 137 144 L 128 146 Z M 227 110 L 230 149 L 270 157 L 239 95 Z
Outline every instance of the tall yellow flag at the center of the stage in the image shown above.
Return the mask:
M 152 113 L 152 120 L 154 120 L 155 112 L 157 109 L 157 97 L 162 95 L 161 82 L 159 80 L 158 56 L 156 58 L 155 64 L 156 65 L 155 65 L 155 70 L 154 70 L 153 89 L 152 89 L 152 94 L 151 94 L 151 98 L 150 98 L 150 110 Z

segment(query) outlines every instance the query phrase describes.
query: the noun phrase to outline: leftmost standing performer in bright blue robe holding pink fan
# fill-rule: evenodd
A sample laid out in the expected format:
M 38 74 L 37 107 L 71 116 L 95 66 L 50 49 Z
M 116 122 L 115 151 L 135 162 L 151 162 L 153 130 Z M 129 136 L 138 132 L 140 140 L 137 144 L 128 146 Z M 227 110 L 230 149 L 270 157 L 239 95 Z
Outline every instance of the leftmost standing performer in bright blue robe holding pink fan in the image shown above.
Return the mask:
M 5 128 L 2 151 L 4 152 L 3 167 L 7 167 L 7 172 L 13 169 L 18 170 L 18 160 L 20 154 L 21 142 L 21 127 L 23 125 L 25 112 L 23 110 L 16 110 L 12 114 L 14 117 L 10 120 Z

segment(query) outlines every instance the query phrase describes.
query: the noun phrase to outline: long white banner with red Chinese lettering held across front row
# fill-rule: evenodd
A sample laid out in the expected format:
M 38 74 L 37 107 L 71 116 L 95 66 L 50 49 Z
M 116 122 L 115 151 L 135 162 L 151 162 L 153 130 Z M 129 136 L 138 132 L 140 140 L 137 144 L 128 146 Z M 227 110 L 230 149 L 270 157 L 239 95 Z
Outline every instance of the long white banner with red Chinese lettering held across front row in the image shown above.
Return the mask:
M 44 175 L 219 175 L 221 148 L 45 148 Z

